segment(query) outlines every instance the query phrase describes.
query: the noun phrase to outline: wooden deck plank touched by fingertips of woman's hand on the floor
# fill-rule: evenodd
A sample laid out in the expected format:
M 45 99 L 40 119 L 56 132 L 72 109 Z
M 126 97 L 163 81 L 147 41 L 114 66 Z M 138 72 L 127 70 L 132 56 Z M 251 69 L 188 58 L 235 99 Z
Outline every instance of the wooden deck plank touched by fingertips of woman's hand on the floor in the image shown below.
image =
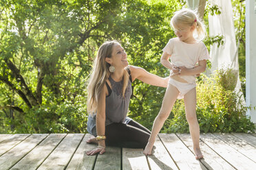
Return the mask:
M 85 134 L 83 141 L 76 150 L 76 153 L 72 157 L 72 160 L 66 170 L 91 170 L 94 168 L 97 155 L 87 156 L 86 154 L 86 151 L 92 150 L 96 147 L 96 145 L 86 143 L 91 136 L 91 134 Z

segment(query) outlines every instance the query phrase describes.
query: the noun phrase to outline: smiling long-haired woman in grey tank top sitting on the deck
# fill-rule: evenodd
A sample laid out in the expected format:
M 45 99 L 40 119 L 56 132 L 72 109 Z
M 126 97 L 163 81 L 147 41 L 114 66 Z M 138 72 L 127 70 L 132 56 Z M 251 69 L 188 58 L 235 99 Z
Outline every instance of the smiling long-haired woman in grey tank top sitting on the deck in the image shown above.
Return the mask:
M 87 87 L 87 131 L 96 136 L 87 143 L 98 143 L 98 147 L 87 151 L 87 155 L 103 154 L 106 144 L 132 148 L 147 145 L 151 132 L 127 117 L 131 82 L 135 79 L 167 87 L 169 77 L 158 77 L 140 67 L 129 66 L 127 53 L 116 40 L 103 43 Z

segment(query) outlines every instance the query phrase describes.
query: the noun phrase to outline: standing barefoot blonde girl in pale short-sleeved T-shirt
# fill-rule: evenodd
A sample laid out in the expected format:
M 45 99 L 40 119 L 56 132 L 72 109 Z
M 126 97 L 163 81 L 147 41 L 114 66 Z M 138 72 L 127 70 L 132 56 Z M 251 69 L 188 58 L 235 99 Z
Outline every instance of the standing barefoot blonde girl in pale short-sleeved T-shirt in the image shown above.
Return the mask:
M 169 117 L 176 99 L 184 98 L 186 120 L 189 123 L 189 131 L 193 141 L 195 158 L 203 158 L 199 146 L 200 129 L 195 113 L 196 91 L 195 75 L 205 71 L 206 60 L 209 53 L 202 42 L 204 26 L 198 21 L 198 16 L 192 10 L 180 10 L 175 12 L 171 19 L 171 27 L 177 38 L 171 38 L 162 49 L 161 63 L 171 70 L 171 78 L 162 101 L 162 107 L 153 123 L 153 129 L 144 154 L 151 155 L 153 143 L 160 132 L 164 121 Z M 195 36 L 197 33 L 197 36 Z M 169 62 L 171 58 L 171 62 Z M 196 66 L 198 64 L 198 66 Z M 173 71 L 179 70 L 179 74 Z

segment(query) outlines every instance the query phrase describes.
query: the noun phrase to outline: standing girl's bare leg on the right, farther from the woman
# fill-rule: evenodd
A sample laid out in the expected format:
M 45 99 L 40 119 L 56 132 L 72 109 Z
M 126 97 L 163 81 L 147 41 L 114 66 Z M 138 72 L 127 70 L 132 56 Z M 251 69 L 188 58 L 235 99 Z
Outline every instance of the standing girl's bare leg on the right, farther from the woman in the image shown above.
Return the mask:
M 196 117 L 196 90 L 191 89 L 186 95 L 184 95 L 184 104 L 186 110 L 186 120 L 189 123 L 189 132 L 193 141 L 193 149 L 195 152 L 195 158 L 203 158 L 202 152 L 200 150 L 200 129 L 198 124 L 198 119 Z

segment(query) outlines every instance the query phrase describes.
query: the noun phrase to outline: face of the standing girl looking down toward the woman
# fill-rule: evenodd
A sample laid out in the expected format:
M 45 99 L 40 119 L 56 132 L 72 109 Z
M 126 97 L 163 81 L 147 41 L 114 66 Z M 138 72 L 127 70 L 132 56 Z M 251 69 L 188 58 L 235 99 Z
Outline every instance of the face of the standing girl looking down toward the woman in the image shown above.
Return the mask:
M 174 29 L 175 35 L 183 42 L 193 42 L 193 26 L 179 24 L 177 29 Z

